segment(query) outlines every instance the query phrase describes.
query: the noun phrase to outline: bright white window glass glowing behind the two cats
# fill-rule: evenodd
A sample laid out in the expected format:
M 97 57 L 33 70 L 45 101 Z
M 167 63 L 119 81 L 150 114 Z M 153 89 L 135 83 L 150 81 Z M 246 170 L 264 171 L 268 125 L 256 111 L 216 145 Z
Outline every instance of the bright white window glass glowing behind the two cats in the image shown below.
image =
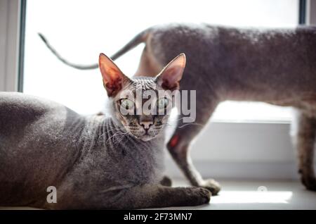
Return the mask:
M 79 113 L 103 110 L 107 96 L 98 70 L 75 70 L 51 54 L 37 32 L 76 63 L 111 56 L 141 30 L 161 23 L 211 23 L 244 27 L 293 27 L 298 0 L 222 1 L 27 1 L 24 92 L 58 101 Z M 117 60 L 126 75 L 138 67 L 143 45 Z M 190 63 L 190 62 L 189 62 Z M 233 111 L 233 112 L 232 112 Z M 287 108 L 263 103 L 224 102 L 213 120 L 287 121 Z

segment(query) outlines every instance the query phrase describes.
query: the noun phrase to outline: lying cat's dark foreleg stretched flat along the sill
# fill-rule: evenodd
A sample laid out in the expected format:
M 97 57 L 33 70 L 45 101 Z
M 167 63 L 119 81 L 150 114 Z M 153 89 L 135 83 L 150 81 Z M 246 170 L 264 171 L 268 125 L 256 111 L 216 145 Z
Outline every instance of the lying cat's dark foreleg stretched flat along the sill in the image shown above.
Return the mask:
M 211 192 L 202 187 L 142 185 L 124 192 L 113 209 L 145 209 L 208 204 Z

